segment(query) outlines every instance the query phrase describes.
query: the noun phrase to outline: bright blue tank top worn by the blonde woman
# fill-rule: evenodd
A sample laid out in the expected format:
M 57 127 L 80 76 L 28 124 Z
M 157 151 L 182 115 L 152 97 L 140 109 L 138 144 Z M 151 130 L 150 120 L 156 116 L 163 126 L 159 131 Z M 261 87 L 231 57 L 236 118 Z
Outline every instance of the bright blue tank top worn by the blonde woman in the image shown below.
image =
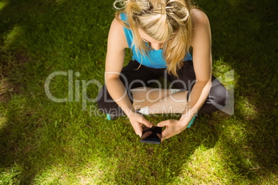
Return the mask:
M 127 14 L 121 13 L 120 17 L 122 21 L 127 21 Z M 129 44 L 129 48 L 131 48 L 132 41 L 133 41 L 132 31 L 130 29 L 124 28 L 124 34 L 125 37 L 127 38 L 127 43 Z M 138 61 L 139 63 L 141 63 L 142 61 L 142 65 L 147 66 L 149 68 L 167 68 L 165 57 L 163 57 L 162 55 L 163 52 L 162 49 L 146 51 L 149 57 L 145 55 L 141 55 L 140 51 L 138 51 L 138 55 L 136 55 L 136 49 L 134 45 L 131 48 L 131 50 L 133 53 L 132 59 Z M 188 60 L 192 60 L 192 55 L 189 53 L 185 55 L 185 59 L 183 61 L 188 61 Z

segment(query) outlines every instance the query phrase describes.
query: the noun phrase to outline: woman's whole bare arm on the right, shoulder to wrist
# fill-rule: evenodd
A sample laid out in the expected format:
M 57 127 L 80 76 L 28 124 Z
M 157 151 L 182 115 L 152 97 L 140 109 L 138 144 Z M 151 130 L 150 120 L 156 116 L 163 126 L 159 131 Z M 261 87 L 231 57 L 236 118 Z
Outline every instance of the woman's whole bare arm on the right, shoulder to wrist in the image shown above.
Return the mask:
M 183 116 L 180 117 L 180 121 L 183 121 L 186 126 L 207 99 L 212 77 L 210 22 L 206 14 L 198 9 L 192 10 L 192 19 L 194 20 L 192 48 L 196 84 L 189 95 Z

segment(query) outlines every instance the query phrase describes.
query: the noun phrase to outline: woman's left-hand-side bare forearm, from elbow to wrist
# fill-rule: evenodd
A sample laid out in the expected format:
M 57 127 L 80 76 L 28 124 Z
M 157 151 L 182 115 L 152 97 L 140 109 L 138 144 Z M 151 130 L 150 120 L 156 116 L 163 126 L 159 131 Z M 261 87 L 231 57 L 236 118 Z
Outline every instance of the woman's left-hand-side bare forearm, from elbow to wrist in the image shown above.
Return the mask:
M 109 95 L 113 100 L 122 108 L 124 113 L 129 117 L 130 113 L 133 112 L 133 106 L 127 95 L 127 90 L 124 88 L 124 84 L 118 78 L 106 79 L 106 87 Z

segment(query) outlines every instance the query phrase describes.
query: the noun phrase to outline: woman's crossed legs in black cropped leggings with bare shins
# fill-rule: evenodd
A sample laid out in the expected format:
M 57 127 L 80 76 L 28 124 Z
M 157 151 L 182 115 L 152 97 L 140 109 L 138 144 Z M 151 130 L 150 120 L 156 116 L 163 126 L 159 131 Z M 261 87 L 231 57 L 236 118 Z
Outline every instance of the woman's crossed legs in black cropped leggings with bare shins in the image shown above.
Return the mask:
M 150 110 L 148 111 L 149 114 L 183 113 L 183 108 L 185 108 L 187 104 L 187 94 L 193 88 L 196 79 L 192 61 L 188 61 L 187 64 L 188 65 L 178 71 L 178 79 L 180 80 L 177 81 L 176 77 L 171 76 L 167 78 L 169 81 L 174 82 L 175 88 L 183 90 L 172 94 L 169 89 L 142 87 L 142 84 L 149 84 L 149 80 L 162 77 L 164 74 L 163 69 L 150 69 L 141 66 L 138 70 L 134 70 L 138 68 L 140 64 L 138 64 L 137 61 L 130 61 L 130 63 L 122 69 L 122 74 L 126 77 L 123 80 L 123 84 L 126 84 L 126 88 L 131 91 L 133 99 L 136 100 L 133 102 L 133 108 L 141 109 L 148 107 Z M 133 83 L 134 81 L 136 83 Z M 220 110 L 227 102 L 227 90 L 225 90 L 220 81 L 212 77 L 210 95 L 207 97 L 207 100 L 198 113 L 212 113 L 216 110 Z M 113 101 L 105 85 L 98 95 L 97 104 L 103 113 L 116 113 L 119 116 L 122 115 L 122 110 L 118 104 Z

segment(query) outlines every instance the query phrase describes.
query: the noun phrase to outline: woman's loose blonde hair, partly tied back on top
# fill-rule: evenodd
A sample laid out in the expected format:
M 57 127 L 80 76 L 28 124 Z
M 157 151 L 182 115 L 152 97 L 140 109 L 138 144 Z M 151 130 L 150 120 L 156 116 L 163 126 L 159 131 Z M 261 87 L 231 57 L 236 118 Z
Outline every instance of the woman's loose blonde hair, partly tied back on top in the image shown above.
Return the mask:
M 115 19 L 132 30 L 132 46 L 135 45 L 137 54 L 140 51 L 146 55 L 146 51 L 151 49 L 142 41 L 138 28 L 157 41 L 170 39 L 163 46 L 163 55 L 167 71 L 177 76 L 177 70 L 183 66 L 183 59 L 191 43 L 190 0 L 116 0 L 114 7 L 118 10 Z M 127 14 L 127 21 L 120 20 L 121 12 Z

